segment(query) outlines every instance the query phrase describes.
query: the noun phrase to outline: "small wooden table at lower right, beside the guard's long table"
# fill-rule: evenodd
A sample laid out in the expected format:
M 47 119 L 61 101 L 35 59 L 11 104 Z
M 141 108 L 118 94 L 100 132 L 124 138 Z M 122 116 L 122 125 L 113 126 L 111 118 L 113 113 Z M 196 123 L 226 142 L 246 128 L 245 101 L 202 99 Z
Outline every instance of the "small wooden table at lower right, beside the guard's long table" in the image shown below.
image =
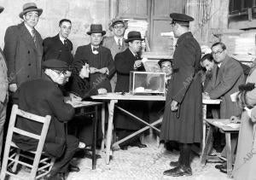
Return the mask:
M 211 151 L 210 143 L 212 139 L 212 132 L 214 127 L 218 127 L 220 132 L 225 134 L 226 154 L 227 154 L 227 173 L 228 173 L 228 177 L 231 177 L 232 176 L 232 160 L 233 160 L 234 154 L 232 154 L 232 151 L 231 151 L 230 134 L 238 133 L 240 129 L 240 125 L 235 124 L 236 125 L 235 127 L 229 126 L 230 119 L 205 119 L 205 121 L 207 125 L 209 125 L 209 131 L 207 133 L 206 146 L 203 148 L 203 151 L 201 154 L 201 164 L 206 165 L 207 160 L 212 159 L 212 157 L 208 156 L 208 154 Z

